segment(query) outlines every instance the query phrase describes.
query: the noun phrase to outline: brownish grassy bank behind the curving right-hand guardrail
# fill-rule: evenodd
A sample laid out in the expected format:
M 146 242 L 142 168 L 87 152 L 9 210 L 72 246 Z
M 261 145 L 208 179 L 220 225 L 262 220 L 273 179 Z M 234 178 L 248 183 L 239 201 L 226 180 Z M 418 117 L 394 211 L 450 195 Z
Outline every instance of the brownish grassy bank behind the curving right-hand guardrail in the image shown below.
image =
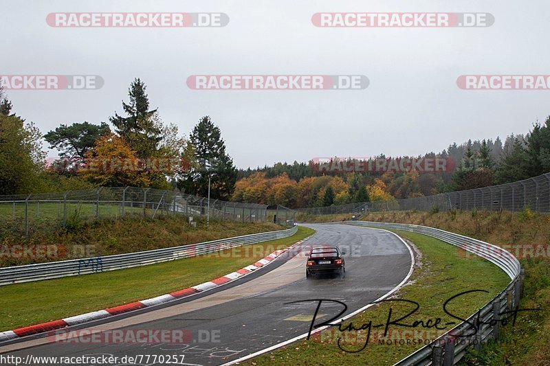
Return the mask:
M 505 328 L 504 343 L 470 352 L 464 365 L 550 365 L 550 215 L 529 209 L 512 212 L 449 211 L 386 212 L 366 214 L 362 220 L 404 222 L 453 231 L 503 247 L 518 257 L 525 268 L 521 308 L 516 326 Z M 507 341 L 507 342 L 506 342 Z

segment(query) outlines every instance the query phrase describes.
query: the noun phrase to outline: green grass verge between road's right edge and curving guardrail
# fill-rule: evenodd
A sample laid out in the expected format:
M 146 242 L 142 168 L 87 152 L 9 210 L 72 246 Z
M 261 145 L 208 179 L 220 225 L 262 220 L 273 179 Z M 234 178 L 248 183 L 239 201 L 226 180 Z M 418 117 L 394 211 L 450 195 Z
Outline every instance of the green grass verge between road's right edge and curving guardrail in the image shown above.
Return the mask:
M 416 268 L 410 282 L 399 290 L 395 298 L 417 301 L 419 310 L 405 323 L 415 320 L 437 319 L 442 323 L 455 321 L 443 312 L 443 303 L 450 297 L 466 290 L 482 289 L 489 293 L 472 293 L 466 301 L 460 301 L 459 306 L 449 306 L 453 314 L 467 317 L 493 299 L 509 283 L 509 277 L 494 264 L 481 258 L 462 258 L 458 255 L 456 247 L 441 242 L 429 236 L 407 231 L 395 231 L 401 237 L 414 242 L 422 253 L 421 267 Z M 388 268 L 391 271 L 391 268 Z M 463 298 L 465 299 L 465 297 Z M 366 304 L 365 304 L 366 305 Z M 385 323 L 388 310 L 393 308 L 395 314 L 406 314 L 412 310 L 410 304 L 382 303 L 373 306 L 353 317 L 351 321 L 356 328 L 364 323 L 373 321 L 373 324 Z M 350 321 L 344 322 L 348 325 Z M 312 337 L 309 341 L 298 341 L 292 345 L 275 350 L 263 356 L 253 358 L 247 365 L 391 365 L 408 354 L 411 354 L 422 345 L 381 345 L 378 343 L 378 330 L 373 328 L 369 345 L 358 353 L 343 352 L 338 348 L 336 341 L 343 336 L 342 347 L 347 350 L 360 350 L 364 345 L 364 339 L 349 337 L 349 332 L 342 335 L 338 328 L 324 331 L 322 334 Z M 383 328 L 382 328 L 383 329 Z M 415 328 L 418 332 L 410 333 L 410 328 L 391 326 L 392 333 L 388 339 L 434 339 L 439 334 L 434 332 L 424 333 L 421 327 Z M 406 332 L 399 335 L 399 332 Z M 382 330 L 383 332 L 383 330 Z M 366 336 L 366 331 L 361 331 L 358 337 Z

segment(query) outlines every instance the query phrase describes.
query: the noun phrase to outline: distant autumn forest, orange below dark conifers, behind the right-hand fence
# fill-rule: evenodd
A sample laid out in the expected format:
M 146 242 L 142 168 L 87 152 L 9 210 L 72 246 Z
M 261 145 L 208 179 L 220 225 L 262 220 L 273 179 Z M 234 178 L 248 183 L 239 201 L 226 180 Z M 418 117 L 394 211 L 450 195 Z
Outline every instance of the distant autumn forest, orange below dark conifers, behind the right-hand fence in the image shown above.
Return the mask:
M 375 158 L 385 158 L 378 155 Z M 454 162 L 451 172 L 324 172 L 316 162 L 275 163 L 239 170 L 234 201 L 287 207 L 341 205 L 414 198 L 520 181 L 550 172 L 550 117 L 535 122 L 527 135 L 508 135 L 503 143 L 483 139 L 450 144 L 419 157 Z M 351 158 L 350 158 L 351 159 Z

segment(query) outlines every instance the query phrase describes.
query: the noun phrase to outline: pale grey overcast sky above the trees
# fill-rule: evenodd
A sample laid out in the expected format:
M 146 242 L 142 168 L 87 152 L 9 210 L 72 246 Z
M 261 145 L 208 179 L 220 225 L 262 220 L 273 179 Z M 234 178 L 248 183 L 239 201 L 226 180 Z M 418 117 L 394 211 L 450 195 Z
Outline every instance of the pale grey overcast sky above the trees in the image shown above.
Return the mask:
M 446 3 L 446 4 L 445 4 Z M 550 91 L 462 90 L 466 74 L 550 74 L 548 1 L 3 1 L 0 74 L 98 75 L 86 91 L 8 90 L 43 133 L 122 113 L 133 78 L 165 123 L 203 115 L 239 168 L 313 157 L 439 152 L 527 133 Z M 225 27 L 50 27 L 50 12 L 223 12 Z M 490 27 L 322 28 L 316 12 L 488 12 Z M 192 90 L 190 75 L 364 75 L 362 90 Z M 45 143 L 45 148 L 47 144 Z M 50 153 L 50 155 L 55 155 Z

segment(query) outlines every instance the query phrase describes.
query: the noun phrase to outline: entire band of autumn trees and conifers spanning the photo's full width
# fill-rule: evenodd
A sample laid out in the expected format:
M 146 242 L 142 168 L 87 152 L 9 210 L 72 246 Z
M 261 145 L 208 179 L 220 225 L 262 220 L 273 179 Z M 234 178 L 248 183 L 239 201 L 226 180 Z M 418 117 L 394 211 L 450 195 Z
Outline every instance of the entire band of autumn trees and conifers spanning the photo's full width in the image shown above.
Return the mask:
M 208 115 L 199 119 L 188 137 L 180 136 L 175 124 L 165 124 L 158 109 L 151 108 L 146 85 L 139 78 L 130 84 L 122 113 L 115 111 L 108 123 L 60 124 L 42 135 L 13 109 L 0 85 L 0 194 L 132 185 L 206 196 L 210 178 L 212 198 L 314 207 L 468 190 L 550 171 L 550 117 L 535 122 L 526 135 L 509 135 L 504 142 L 499 137 L 468 140 L 441 152 L 401 157 L 448 158 L 456 163 L 453 172 L 344 174 L 317 170 L 312 161 L 237 170 L 220 128 Z M 57 161 L 46 163 L 43 139 L 58 150 Z M 150 166 L 151 161 L 174 160 L 185 164 L 168 169 Z M 96 162 L 96 169 L 90 168 L 90 162 Z M 122 169 L 113 169 L 113 162 Z

